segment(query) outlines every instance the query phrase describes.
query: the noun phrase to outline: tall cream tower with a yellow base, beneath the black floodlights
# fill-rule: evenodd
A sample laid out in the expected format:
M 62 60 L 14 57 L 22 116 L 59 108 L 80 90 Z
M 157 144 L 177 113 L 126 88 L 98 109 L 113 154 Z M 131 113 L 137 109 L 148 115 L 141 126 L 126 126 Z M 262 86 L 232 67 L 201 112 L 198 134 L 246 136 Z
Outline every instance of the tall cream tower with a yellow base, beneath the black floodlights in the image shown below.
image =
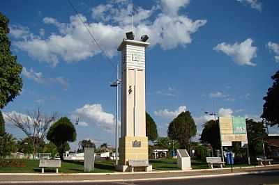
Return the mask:
M 145 122 L 145 49 L 149 42 L 123 39 L 121 51 L 122 110 L 118 170 L 127 171 L 129 161 L 148 164 L 148 138 Z M 135 170 L 152 170 L 142 166 Z

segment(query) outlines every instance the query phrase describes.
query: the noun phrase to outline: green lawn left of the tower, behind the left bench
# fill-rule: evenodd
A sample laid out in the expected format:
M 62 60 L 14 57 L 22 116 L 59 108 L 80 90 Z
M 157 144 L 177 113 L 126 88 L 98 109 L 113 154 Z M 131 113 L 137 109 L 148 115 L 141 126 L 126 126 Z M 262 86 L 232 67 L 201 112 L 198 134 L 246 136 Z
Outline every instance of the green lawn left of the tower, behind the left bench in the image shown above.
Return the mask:
M 39 160 L 33 159 L 15 159 L 20 166 L 0 167 L 0 172 L 41 172 Z M 83 172 L 83 162 L 63 161 L 59 172 L 76 173 Z M 95 170 L 93 172 L 114 172 L 113 161 L 95 161 Z M 55 168 L 45 168 L 45 172 L 56 172 Z

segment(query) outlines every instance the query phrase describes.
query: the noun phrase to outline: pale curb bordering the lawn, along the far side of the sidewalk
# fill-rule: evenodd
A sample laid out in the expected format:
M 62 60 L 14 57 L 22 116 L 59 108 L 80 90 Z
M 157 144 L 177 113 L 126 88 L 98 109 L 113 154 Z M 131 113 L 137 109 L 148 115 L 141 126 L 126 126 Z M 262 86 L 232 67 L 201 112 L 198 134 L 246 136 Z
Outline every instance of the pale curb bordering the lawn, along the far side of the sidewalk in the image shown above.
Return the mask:
M 243 166 L 234 167 L 233 169 L 246 169 L 246 168 L 265 168 L 265 167 L 276 167 L 279 164 L 273 164 L 269 166 Z M 202 171 L 214 171 L 214 170 L 227 170 L 228 168 L 206 168 L 206 169 L 196 169 L 196 170 L 162 170 L 162 171 L 151 171 L 151 172 L 102 172 L 102 173 L 0 173 L 1 175 L 126 175 L 126 174 L 160 174 L 160 173 L 172 173 L 172 172 L 202 172 Z

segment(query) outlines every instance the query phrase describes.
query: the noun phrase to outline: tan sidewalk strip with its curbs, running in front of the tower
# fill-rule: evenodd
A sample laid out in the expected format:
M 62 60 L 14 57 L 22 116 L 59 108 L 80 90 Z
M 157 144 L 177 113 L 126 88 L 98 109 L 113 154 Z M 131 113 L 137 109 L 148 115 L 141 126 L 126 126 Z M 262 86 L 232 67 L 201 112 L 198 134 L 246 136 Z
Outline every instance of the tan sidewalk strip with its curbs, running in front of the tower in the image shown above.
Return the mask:
M 125 181 L 143 181 L 156 179 L 187 179 L 220 177 L 227 175 L 245 175 L 261 172 L 279 172 L 279 165 L 271 166 L 253 166 L 233 168 L 214 168 L 202 170 L 172 170 L 172 171 L 153 171 L 153 172 L 114 172 L 114 173 L 79 173 L 79 174 L 0 174 L 0 184 L 22 184 L 31 183 L 58 183 L 58 182 L 125 182 Z

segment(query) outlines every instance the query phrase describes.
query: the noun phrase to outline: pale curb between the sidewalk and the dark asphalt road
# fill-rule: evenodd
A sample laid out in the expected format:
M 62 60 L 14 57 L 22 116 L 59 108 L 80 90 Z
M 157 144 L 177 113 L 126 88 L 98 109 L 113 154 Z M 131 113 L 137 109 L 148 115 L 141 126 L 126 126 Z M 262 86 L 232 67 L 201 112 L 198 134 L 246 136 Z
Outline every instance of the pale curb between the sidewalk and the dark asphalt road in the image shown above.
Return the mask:
M 14 182 L 0 182 L 0 184 L 58 184 L 58 183 L 82 183 L 82 182 L 142 182 L 142 181 L 156 181 L 156 180 L 174 180 L 174 179 L 202 179 L 202 178 L 213 178 L 213 177 L 227 177 L 234 175 L 251 175 L 251 174 L 262 174 L 262 173 L 272 173 L 279 172 L 279 170 L 261 170 L 257 172 L 236 172 L 236 173 L 226 173 L 226 174 L 216 174 L 216 175 L 193 175 L 193 176 L 183 176 L 183 177 L 156 177 L 156 178 L 146 178 L 146 179 L 103 179 L 103 180 L 77 180 L 77 181 L 14 181 Z

